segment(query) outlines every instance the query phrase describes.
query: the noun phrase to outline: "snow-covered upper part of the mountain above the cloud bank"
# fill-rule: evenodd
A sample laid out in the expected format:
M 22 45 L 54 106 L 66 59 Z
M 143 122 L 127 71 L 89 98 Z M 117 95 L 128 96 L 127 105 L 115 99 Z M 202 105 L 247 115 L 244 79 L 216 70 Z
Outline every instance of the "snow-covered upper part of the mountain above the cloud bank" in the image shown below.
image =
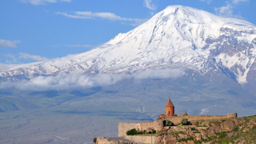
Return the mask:
M 187 68 L 202 75 L 221 69 L 239 83 L 255 81 L 256 26 L 174 5 L 91 51 L 15 66 L 1 81 L 60 73 L 130 74 L 145 69 Z M 249 76 L 250 74 L 250 76 Z

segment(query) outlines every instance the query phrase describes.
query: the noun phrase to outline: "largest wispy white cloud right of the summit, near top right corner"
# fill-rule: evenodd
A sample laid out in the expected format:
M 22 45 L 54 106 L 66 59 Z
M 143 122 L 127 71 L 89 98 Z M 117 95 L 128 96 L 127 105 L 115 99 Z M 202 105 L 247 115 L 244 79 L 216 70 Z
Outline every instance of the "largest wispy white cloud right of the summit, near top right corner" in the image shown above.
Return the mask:
M 235 6 L 240 4 L 241 2 L 250 2 L 249 0 L 231 0 L 231 1 L 226 1 L 225 6 L 221 7 L 214 7 L 214 11 L 218 15 L 226 16 L 226 17 L 239 17 L 237 15 L 234 15 L 234 9 Z

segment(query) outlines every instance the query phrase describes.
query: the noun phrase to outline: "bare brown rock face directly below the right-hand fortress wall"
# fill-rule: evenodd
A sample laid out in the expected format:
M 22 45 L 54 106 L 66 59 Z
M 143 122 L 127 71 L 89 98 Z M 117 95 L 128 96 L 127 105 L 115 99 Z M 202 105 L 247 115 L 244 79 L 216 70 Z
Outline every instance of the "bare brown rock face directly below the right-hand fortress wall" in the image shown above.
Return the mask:
M 212 121 L 197 121 L 197 125 L 172 126 L 167 133 L 157 136 L 156 143 L 195 143 L 209 138 L 216 137 L 218 133 L 233 131 L 246 120 L 244 118 L 226 118 Z M 252 121 L 251 123 L 253 123 Z M 253 126 L 253 125 L 252 125 Z M 252 127 L 251 126 L 251 127 Z M 250 128 L 244 129 L 249 131 Z M 233 133 L 231 133 L 232 135 Z

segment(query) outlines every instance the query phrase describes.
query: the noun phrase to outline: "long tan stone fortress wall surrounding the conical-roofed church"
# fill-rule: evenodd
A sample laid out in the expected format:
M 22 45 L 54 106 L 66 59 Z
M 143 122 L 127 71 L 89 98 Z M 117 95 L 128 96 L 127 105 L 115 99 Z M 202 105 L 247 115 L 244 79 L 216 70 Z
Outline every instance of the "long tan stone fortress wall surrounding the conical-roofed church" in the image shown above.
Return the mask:
M 142 123 L 118 123 L 118 137 L 126 136 L 126 132 L 131 129 L 136 129 L 139 131 L 151 131 L 152 129 L 156 131 L 161 131 L 164 129 L 163 120 L 168 119 L 173 122 L 175 125 L 181 122 L 182 118 L 187 118 L 188 121 L 196 121 L 201 119 L 221 119 L 237 117 L 237 113 L 228 113 L 227 116 L 218 116 L 218 115 L 186 115 L 186 116 L 170 116 L 168 118 L 157 119 L 154 122 L 142 122 Z

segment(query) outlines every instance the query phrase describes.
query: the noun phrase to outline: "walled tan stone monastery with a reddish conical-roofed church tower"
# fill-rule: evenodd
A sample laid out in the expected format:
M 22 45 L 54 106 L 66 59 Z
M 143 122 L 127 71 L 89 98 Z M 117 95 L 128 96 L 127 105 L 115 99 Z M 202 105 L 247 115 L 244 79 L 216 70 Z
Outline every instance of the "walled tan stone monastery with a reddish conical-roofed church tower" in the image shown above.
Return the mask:
M 227 115 L 188 115 L 185 111 L 182 115 L 175 114 L 174 105 L 172 101 L 169 99 L 164 107 L 165 113 L 160 114 L 158 119 L 153 122 L 141 122 L 141 123 L 118 123 L 118 138 L 125 138 L 127 140 L 146 142 L 152 140 L 152 137 L 149 136 L 138 136 L 138 135 L 126 135 L 126 132 L 131 129 L 136 129 L 137 131 L 152 131 L 156 130 L 156 133 L 167 132 L 173 126 L 164 126 L 164 120 L 169 120 L 173 122 L 174 125 L 179 125 L 183 118 L 188 119 L 189 122 L 195 126 L 196 121 L 200 121 L 203 119 L 211 120 L 211 119 L 226 119 L 226 118 L 236 118 L 237 113 L 228 113 Z M 175 126 L 174 126 L 175 127 Z M 173 129 L 173 128 L 172 128 Z M 147 138 L 148 137 L 148 138 Z M 99 137 L 100 139 L 105 139 L 103 137 Z M 154 137 L 155 138 L 155 137 Z M 97 140 L 98 141 L 98 140 Z M 106 142 L 103 142 L 106 143 Z M 147 143 L 147 142 L 146 142 Z

